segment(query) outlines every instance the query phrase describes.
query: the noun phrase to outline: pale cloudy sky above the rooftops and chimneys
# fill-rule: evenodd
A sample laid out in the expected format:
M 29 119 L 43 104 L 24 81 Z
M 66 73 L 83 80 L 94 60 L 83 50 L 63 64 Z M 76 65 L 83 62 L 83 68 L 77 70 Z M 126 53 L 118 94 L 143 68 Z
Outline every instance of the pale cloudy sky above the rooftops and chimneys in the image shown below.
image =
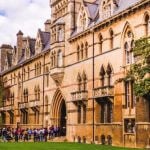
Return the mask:
M 50 19 L 49 0 L 0 0 L 0 45 L 16 45 L 19 30 L 35 38 Z

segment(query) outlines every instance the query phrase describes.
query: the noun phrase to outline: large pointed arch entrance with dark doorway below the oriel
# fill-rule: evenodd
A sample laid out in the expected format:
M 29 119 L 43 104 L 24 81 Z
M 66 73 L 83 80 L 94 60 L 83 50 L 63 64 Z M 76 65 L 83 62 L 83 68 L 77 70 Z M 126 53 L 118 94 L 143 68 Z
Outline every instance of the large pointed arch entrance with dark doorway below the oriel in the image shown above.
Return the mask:
M 51 124 L 60 128 L 60 136 L 66 135 L 67 108 L 65 99 L 58 89 L 53 97 L 51 106 Z

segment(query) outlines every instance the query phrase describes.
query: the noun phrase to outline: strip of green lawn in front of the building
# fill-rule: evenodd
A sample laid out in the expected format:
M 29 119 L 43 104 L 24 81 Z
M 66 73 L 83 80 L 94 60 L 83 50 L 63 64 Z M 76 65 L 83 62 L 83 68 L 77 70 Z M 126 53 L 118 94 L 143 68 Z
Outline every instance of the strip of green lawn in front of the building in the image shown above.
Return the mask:
M 125 148 L 76 143 L 0 143 L 0 150 L 123 150 Z M 126 148 L 125 150 L 133 150 Z

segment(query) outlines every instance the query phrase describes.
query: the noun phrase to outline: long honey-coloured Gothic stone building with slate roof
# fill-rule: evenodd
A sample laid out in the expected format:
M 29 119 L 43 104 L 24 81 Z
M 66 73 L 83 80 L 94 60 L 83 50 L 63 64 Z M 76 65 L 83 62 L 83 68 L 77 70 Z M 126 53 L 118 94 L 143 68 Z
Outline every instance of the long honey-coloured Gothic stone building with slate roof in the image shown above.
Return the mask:
M 149 0 L 51 0 L 37 37 L 2 45 L 3 124 L 59 126 L 68 141 L 148 147 L 150 102 L 120 81 L 150 35 Z

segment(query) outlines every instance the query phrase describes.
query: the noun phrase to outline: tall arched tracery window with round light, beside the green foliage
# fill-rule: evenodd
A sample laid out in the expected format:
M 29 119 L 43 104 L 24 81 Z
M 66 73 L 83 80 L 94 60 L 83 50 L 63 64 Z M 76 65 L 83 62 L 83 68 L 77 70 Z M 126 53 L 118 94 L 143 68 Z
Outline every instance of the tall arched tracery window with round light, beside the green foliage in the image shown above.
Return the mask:
M 126 64 L 132 64 L 134 62 L 133 46 L 134 46 L 133 33 L 131 32 L 131 30 L 127 30 L 125 34 L 125 43 L 124 43 Z

